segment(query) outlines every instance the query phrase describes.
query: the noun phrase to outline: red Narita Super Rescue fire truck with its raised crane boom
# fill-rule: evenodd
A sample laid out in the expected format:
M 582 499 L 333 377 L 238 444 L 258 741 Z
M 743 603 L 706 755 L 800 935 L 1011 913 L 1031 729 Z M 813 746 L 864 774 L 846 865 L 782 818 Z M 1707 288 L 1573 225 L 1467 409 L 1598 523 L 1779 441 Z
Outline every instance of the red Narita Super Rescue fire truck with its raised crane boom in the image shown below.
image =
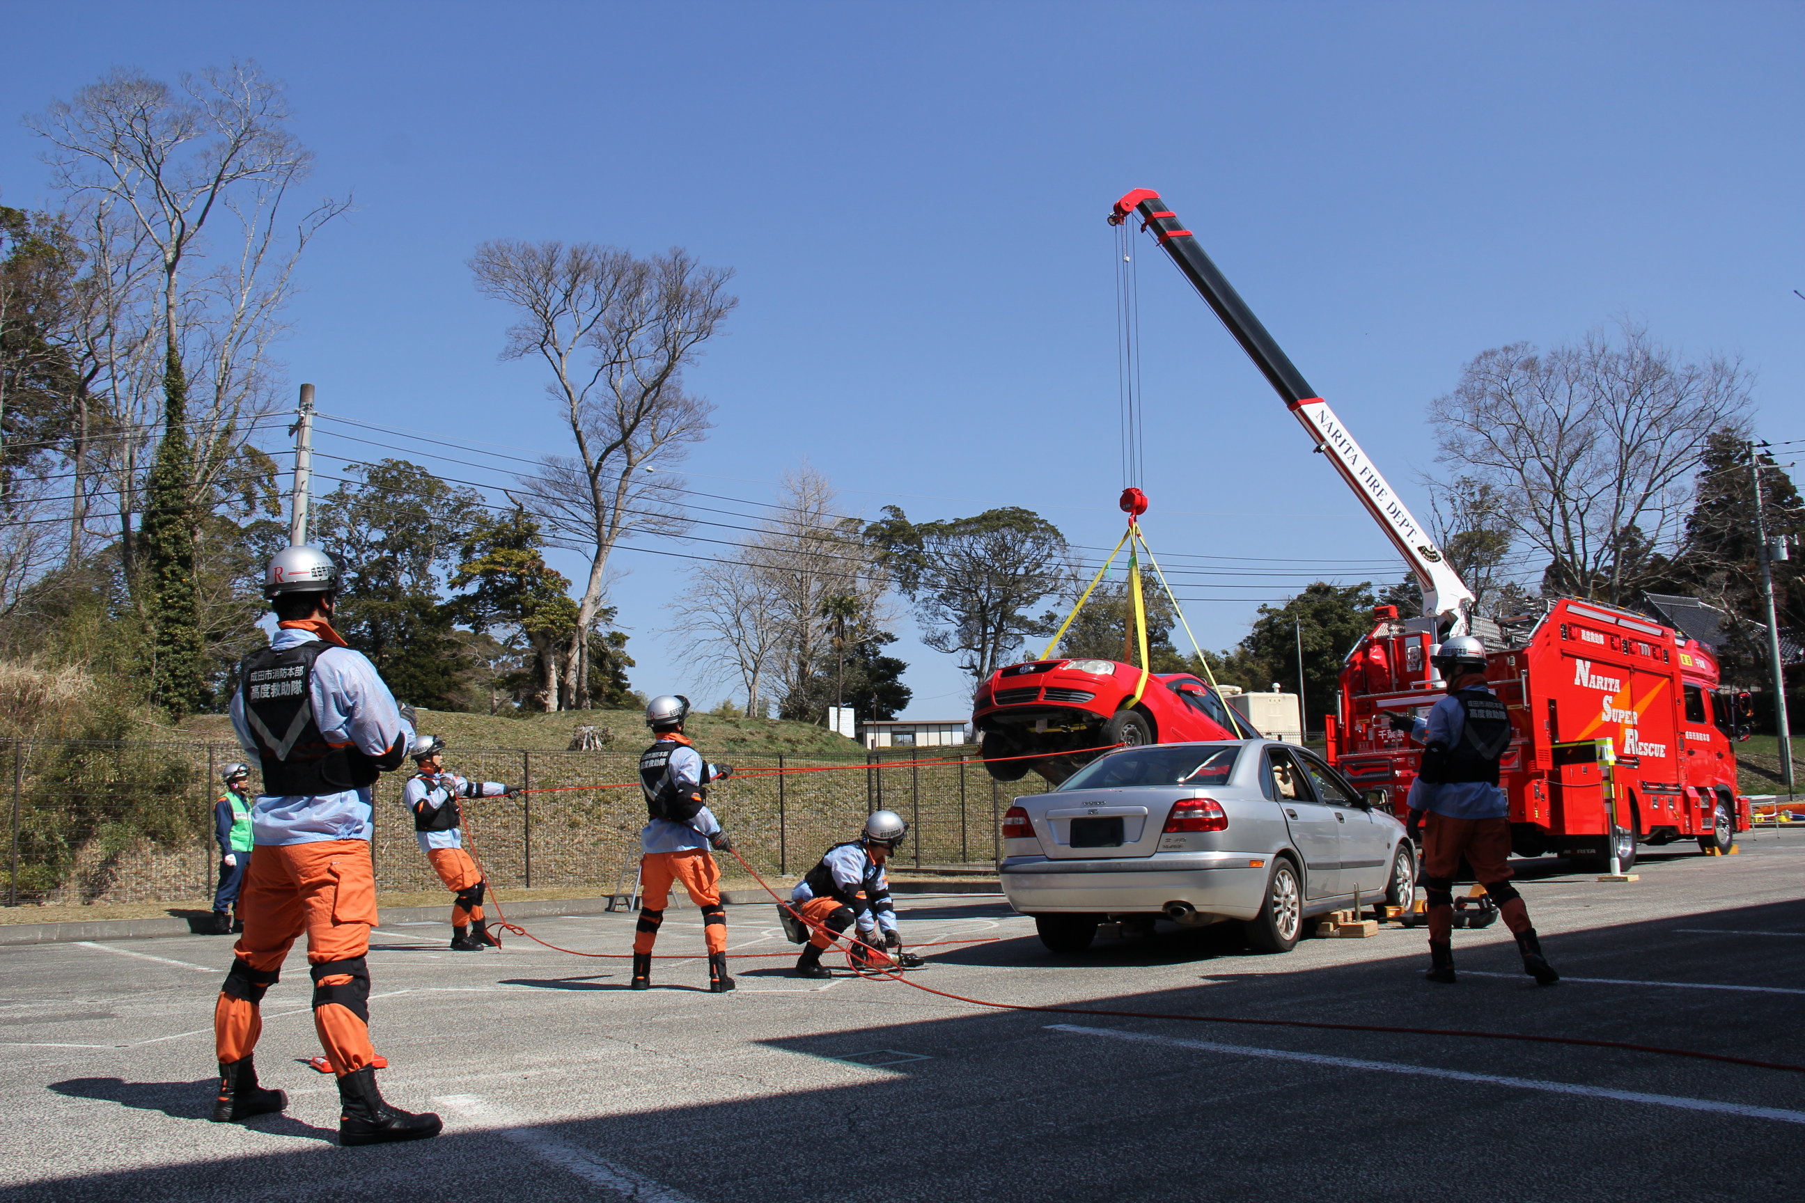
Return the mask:
M 1431 705 L 1446 691 L 1430 664 L 1431 647 L 1471 633 L 1486 644 L 1487 682 L 1516 727 L 1502 785 L 1518 855 L 1605 864 L 1615 844 L 1619 868 L 1626 868 L 1637 844 L 1697 839 L 1702 849 L 1727 849 L 1735 833 L 1749 828 L 1731 745 L 1747 738 L 1747 694 L 1718 687 L 1709 647 L 1646 615 L 1590 601 L 1550 599 L 1534 613 L 1498 620 L 1471 615 L 1471 590 L 1197 236 L 1150 189 L 1117 200 L 1110 222 L 1134 216 L 1222 319 L 1422 586 L 1424 617 L 1399 620 L 1393 606 L 1381 606 L 1372 631 L 1348 653 L 1338 714 L 1327 723 L 1336 767 L 1361 788 L 1386 790 L 1402 812 L 1421 747 L 1390 730 L 1384 714 Z

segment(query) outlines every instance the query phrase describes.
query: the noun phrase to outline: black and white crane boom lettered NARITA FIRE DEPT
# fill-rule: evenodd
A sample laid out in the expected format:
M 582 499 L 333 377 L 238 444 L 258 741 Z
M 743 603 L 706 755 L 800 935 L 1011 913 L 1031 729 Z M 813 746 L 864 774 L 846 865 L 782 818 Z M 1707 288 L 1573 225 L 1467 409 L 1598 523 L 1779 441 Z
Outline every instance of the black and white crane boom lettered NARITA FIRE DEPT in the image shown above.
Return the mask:
M 1341 473 L 1354 496 L 1361 500 L 1366 512 L 1374 516 L 1392 546 L 1397 548 L 1404 563 L 1422 586 L 1422 613 L 1437 620 L 1442 635 L 1466 635 L 1467 606 L 1473 602 L 1473 590 L 1466 586 L 1440 550 L 1435 539 L 1415 519 L 1397 491 L 1386 483 L 1384 474 L 1354 442 L 1347 424 L 1328 408 L 1328 402 L 1316 395 L 1303 373 L 1298 372 L 1291 357 L 1278 346 L 1267 328 L 1260 325 L 1253 310 L 1227 281 L 1222 271 L 1209 260 L 1199 245 L 1197 236 L 1184 229 L 1177 215 L 1166 207 L 1159 193 L 1137 188 L 1115 202 L 1110 213 L 1110 225 L 1121 225 L 1130 215 L 1139 213 L 1141 229 L 1153 233 L 1171 262 L 1179 265 L 1184 278 L 1191 281 L 1222 325 L 1227 326 L 1235 341 L 1240 343 L 1247 357 L 1253 359 L 1260 373 L 1265 375 L 1273 391 L 1283 399 L 1285 408 L 1303 424 L 1316 442 L 1316 449 L 1328 456 L 1328 462 Z

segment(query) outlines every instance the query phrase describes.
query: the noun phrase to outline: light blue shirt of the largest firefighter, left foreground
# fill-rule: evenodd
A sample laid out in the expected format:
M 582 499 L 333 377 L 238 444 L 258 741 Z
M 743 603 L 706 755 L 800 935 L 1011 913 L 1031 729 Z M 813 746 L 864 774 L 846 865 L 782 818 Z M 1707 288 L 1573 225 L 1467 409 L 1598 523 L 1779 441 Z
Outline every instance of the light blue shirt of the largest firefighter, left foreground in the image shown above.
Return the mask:
M 269 646 L 282 651 L 318 638 L 312 631 L 280 629 Z M 395 696 L 361 651 L 327 647 L 314 658 L 309 691 L 314 723 L 327 743 L 352 745 L 381 756 L 395 739 L 412 741 L 413 727 L 401 718 Z M 256 739 L 244 721 L 244 691 L 233 694 L 231 725 L 238 745 L 260 758 Z M 258 844 L 318 844 L 323 840 L 368 840 L 374 830 L 370 786 L 316 795 L 260 794 L 251 804 L 251 835 Z

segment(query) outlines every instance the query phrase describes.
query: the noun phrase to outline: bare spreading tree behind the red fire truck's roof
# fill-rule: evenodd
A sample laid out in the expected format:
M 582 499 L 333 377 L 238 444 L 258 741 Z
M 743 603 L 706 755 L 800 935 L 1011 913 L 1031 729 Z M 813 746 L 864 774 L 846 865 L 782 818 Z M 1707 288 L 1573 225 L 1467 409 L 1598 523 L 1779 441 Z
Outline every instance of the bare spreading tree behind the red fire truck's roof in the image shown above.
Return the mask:
M 1682 363 L 1623 323 L 1617 339 L 1484 352 L 1430 418 L 1437 458 L 1496 491 L 1495 518 L 1549 556 L 1547 590 L 1624 604 L 1680 534 L 1706 440 L 1747 411 L 1740 361 Z

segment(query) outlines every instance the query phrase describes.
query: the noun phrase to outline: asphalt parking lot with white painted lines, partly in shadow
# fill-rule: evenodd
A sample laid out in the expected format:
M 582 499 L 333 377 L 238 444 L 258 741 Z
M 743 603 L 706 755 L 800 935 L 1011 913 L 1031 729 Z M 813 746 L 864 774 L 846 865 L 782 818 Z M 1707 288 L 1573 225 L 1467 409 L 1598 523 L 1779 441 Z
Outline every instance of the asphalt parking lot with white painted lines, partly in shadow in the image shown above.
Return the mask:
M 1675 846 L 1677 849 L 1679 846 Z M 1455 932 L 1457 987 L 1421 931 L 1247 952 L 1226 929 L 1045 952 L 998 896 L 902 902 L 913 979 L 971 997 L 1475 1028 L 1805 1064 L 1805 833 L 1742 855 L 1653 849 L 1641 882 L 1516 862 L 1550 960 L 1536 988 L 1504 925 Z M 505 896 L 504 896 L 505 905 Z M 534 920 L 625 952 L 632 916 Z M 700 960 L 440 925 L 374 940 L 384 1093 L 439 1140 L 336 1143 L 303 958 L 264 1005 L 280 1116 L 209 1124 L 211 1010 L 229 938 L 0 949 L 0 1199 L 1778 1199 L 1805 1196 L 1805 1073 L 1560 1044 L 980 1010 L 848 974 L 789 976 L 771 907 L 735 907 L 740 990 Z M 659 952 L 700 952 L 673 911 Z M 836 960 L 836 958 L 830 958 Z

